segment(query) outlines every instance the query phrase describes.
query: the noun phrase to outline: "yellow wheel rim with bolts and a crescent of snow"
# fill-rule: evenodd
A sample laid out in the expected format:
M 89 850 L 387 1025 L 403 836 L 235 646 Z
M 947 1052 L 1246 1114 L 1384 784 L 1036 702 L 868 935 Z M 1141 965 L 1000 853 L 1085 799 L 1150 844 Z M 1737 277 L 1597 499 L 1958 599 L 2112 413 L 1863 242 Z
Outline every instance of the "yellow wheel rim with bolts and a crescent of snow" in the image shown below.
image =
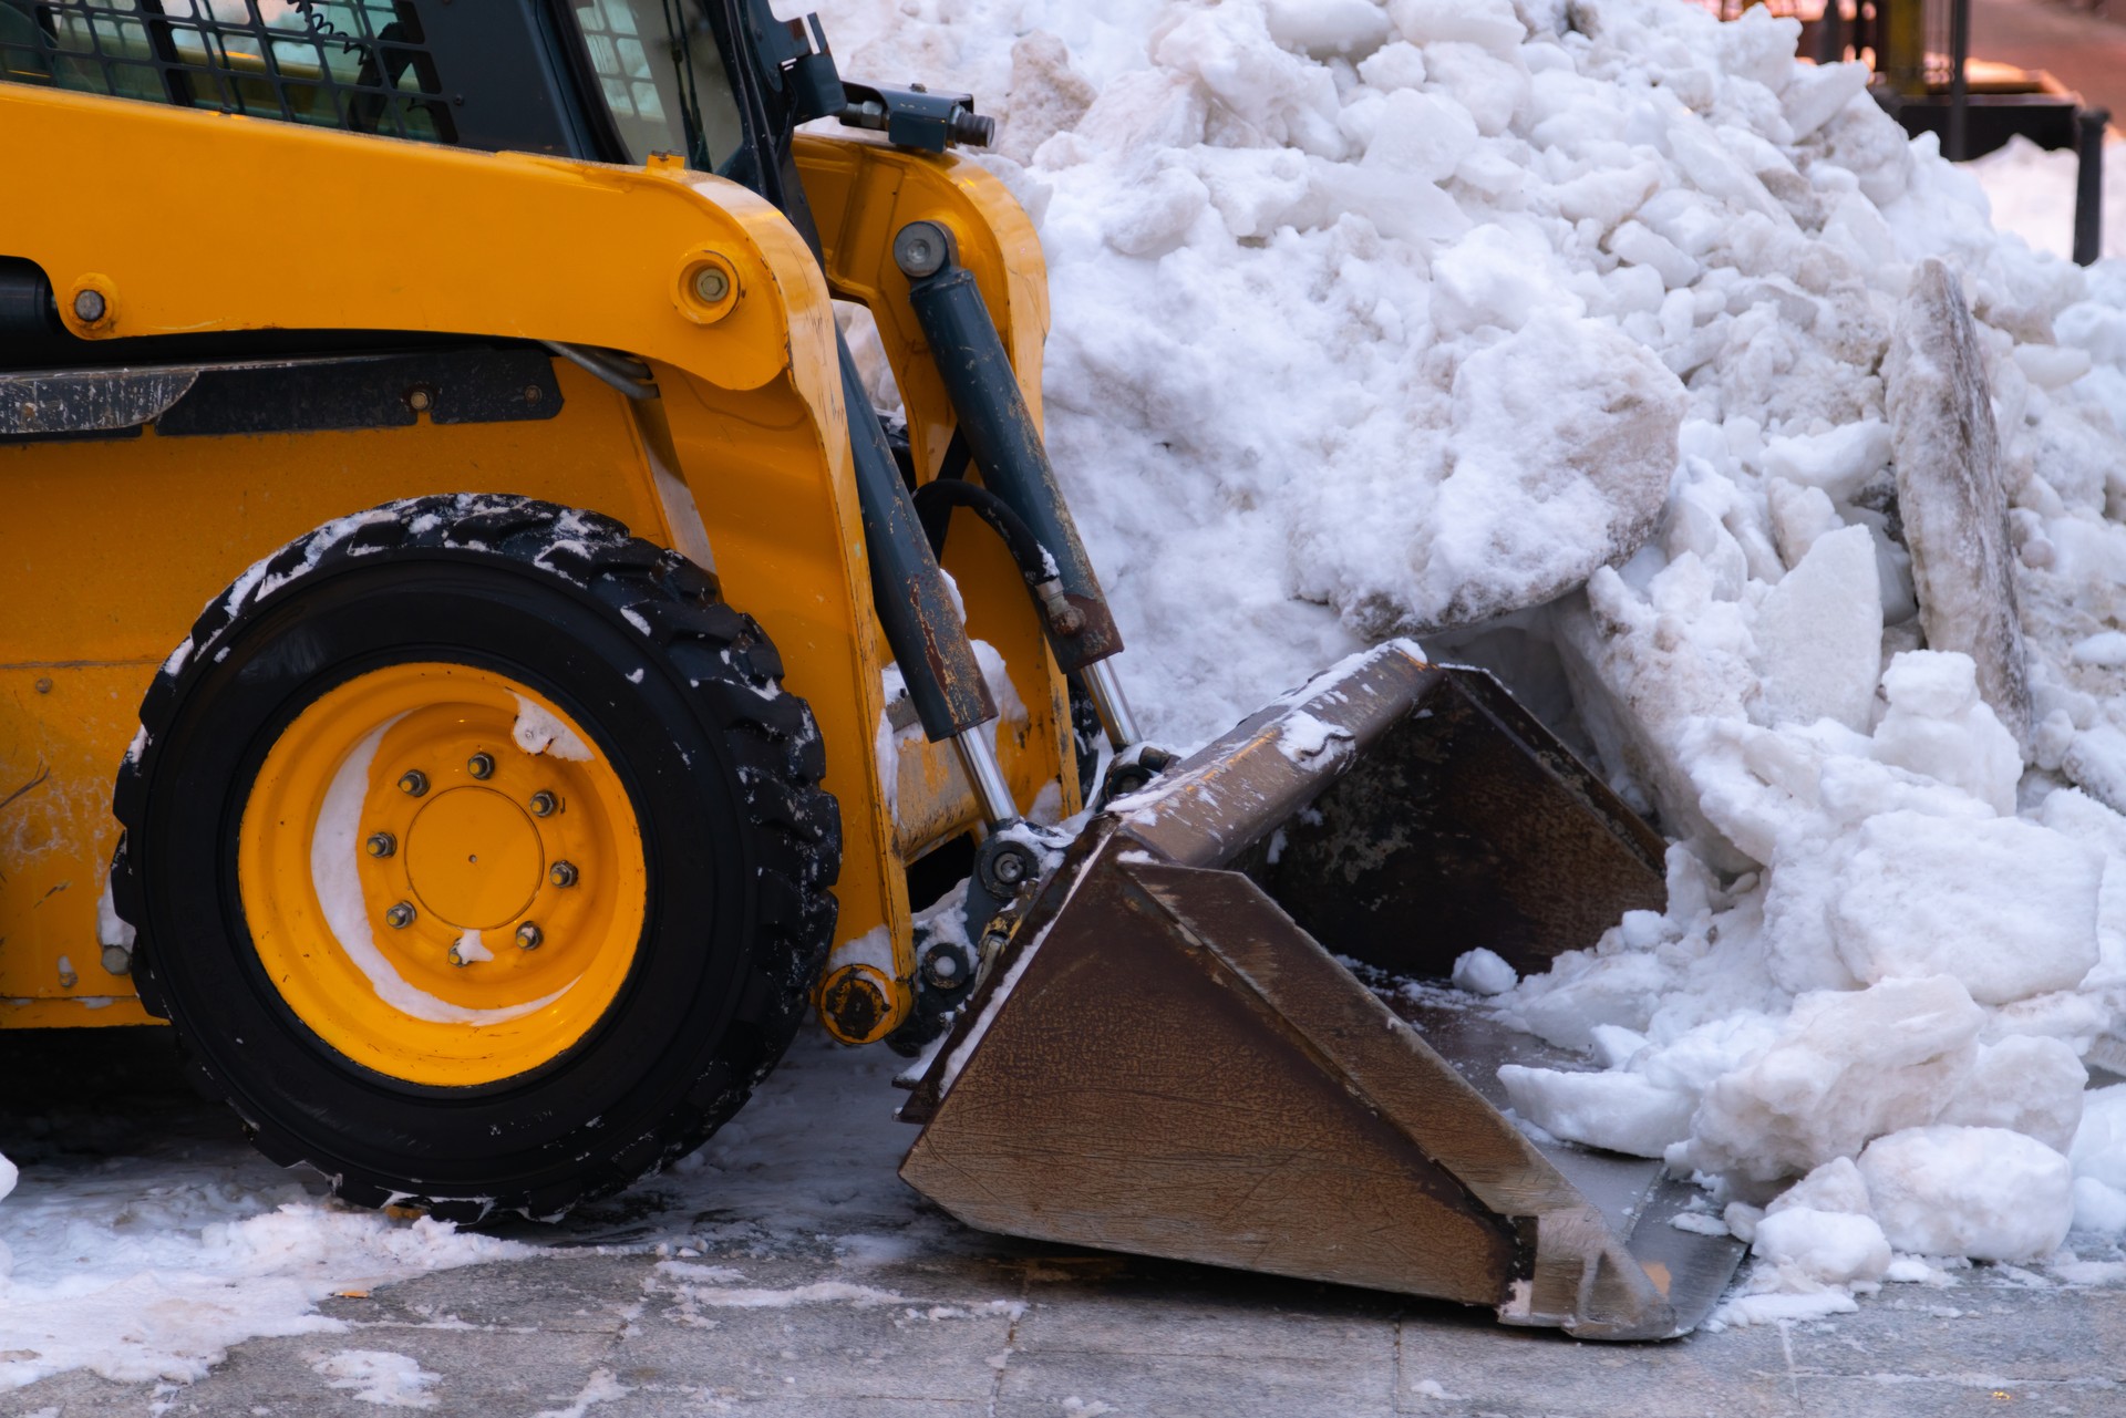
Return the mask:
M 648 899 L 595 742 L 534 689 L 451 663 L 306 708 L 251 787 L 236 874 L 287 1008 L 355 1063 L 440 1086 L 568 1052 L 627 980 Z

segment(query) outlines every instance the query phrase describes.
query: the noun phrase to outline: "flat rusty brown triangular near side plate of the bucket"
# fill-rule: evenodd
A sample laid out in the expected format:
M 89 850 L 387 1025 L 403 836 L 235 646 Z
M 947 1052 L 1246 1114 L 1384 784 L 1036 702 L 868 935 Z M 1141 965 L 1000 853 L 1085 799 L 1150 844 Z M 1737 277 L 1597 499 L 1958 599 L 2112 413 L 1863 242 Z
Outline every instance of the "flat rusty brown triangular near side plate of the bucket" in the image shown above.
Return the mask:
M 1280 999 L 1327 995 L 1312 1014 L 1359 1003 L 1382 1037 L 1393 1018 L 1297 933 L 1265 942 L 1284 965 L 1265 997 L 1174 918 L 1161 867 L 1118 861 L 1118 844 L 1089 865 L 901 1176 L 991 1231 L 1503 1303 L 1531 1263 L 1514 1220 L 1359 1103 Z M 1250 906 L 1193 901 L 1227 933 L 1265 927 Z

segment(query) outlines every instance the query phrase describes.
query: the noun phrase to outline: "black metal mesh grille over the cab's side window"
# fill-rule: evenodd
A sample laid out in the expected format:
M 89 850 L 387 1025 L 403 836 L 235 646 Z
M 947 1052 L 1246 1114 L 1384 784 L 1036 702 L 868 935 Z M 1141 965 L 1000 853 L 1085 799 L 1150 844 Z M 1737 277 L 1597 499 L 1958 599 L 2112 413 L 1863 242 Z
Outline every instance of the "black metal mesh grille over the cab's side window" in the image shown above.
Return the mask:
M 455 140 L 410 0 L 0 0 L 0 79 Z

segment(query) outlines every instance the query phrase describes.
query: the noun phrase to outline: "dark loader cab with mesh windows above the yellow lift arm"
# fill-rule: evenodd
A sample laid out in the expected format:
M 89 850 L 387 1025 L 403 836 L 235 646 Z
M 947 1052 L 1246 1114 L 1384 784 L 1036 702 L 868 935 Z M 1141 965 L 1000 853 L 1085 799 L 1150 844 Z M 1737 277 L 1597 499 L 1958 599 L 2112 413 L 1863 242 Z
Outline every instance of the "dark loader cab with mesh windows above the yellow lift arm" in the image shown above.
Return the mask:
M 840 108 L 831 72 L 816 23 L 765 0 L 0 0 L 4 81 L 485 151 L 676 153 L 770 200 L 789 130 Z

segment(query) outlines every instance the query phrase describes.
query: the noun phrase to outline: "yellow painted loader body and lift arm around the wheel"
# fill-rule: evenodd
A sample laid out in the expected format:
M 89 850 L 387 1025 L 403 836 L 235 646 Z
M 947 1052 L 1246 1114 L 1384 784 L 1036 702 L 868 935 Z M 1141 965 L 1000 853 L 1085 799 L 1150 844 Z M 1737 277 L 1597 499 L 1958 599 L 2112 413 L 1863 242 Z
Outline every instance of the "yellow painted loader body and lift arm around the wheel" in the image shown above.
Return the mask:
M 865 578 L 836 370 L 833 298 L 872 304 L 901 383 L 918 468 L 950 410 L 884 255 L 895 225 L 959 240 L 1027 404 L 1040 408 L 1040 247 L 974 164 L 867 140 L 804 138 L 833 281 L 755 193 L 676 162 L 617 168 L 468 153 L 0 85 L 26 189 L 66 200 L 9 217 L 9 253 L 51 278 L 83 338 L 234 330 L 374 330 L 629 351 L 661 400 L 636 404 L 555 359 L 561 410 L 519 423 L 85 438 L 0 444 L 11 517 L 0 591 L 0 1027 L 119 1025 L 147 1014 L 102 967 L 98 901 L 117 840 L 111 782 L 155 668 L 255 559 L 395 497 L 510 491 L 627 523 L 719 574 L 780 646 L 819 716 L 842 804 L 838 940 L 893 948 L 908 1008 L 904 865 L 978 821 L 946 746 L 882 763 L 889 661 Z M 136 162 L 153 151 L 153 162 Z M 83 183 L 79 174 L 104 179 Z M 138 213 L 155 213 L 145 225 Z M 870 253 L 870 261 L 863 255 Z M 693 272 L 733 293 L 704 304 Z M 74 315 L 96 291 L 102 319 Z M 865 410 L 865 417 L 870 410 Z M 946 568 L 969 631 L 997 646 L 1027 706 L 999 742 L 1020 806 L 1059 784 L 1078 808 L 1061 676 L 991 538 Z M 906 736 L 904 736 L 906 738 Z M 897 776 L 889 795 L 880 774 Z M 897 804 L 897 812 L 891 804 Z M 104 912 L 108 916 L 108 912 Z

